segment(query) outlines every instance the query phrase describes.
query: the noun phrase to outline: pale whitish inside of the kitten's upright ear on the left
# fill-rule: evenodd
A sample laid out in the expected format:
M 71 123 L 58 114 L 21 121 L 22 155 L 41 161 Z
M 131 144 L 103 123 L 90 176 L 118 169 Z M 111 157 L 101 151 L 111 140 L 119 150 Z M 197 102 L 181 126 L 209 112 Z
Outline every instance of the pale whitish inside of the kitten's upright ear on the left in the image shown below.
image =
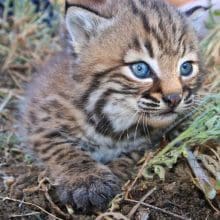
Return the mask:
M 80 7 L 70 7 L 66 13 L 66 28 L 76 53 L 110 23 L 109 19 Z

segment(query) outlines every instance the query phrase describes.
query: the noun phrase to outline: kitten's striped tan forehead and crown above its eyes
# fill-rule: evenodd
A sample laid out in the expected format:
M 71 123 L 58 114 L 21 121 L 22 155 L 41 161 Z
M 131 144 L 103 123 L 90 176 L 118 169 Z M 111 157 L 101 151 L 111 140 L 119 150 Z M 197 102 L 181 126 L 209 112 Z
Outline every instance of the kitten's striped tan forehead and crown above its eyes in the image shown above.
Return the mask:
M 170 65 L 171 60 L 177 62 L 185 55 L 197 52 L 193 29 L 173 6 L 162 0 L 117 2 L 119 10 L 112 18 L 112 25 L 83 52 L 87 63 L 102 63 L 106 68 L 117 66 L 123 64 L 128 53 L 133 51 L 134 56 L 139 53 L 139 60 L 143 54 L 148 54 L 157 62 Z

